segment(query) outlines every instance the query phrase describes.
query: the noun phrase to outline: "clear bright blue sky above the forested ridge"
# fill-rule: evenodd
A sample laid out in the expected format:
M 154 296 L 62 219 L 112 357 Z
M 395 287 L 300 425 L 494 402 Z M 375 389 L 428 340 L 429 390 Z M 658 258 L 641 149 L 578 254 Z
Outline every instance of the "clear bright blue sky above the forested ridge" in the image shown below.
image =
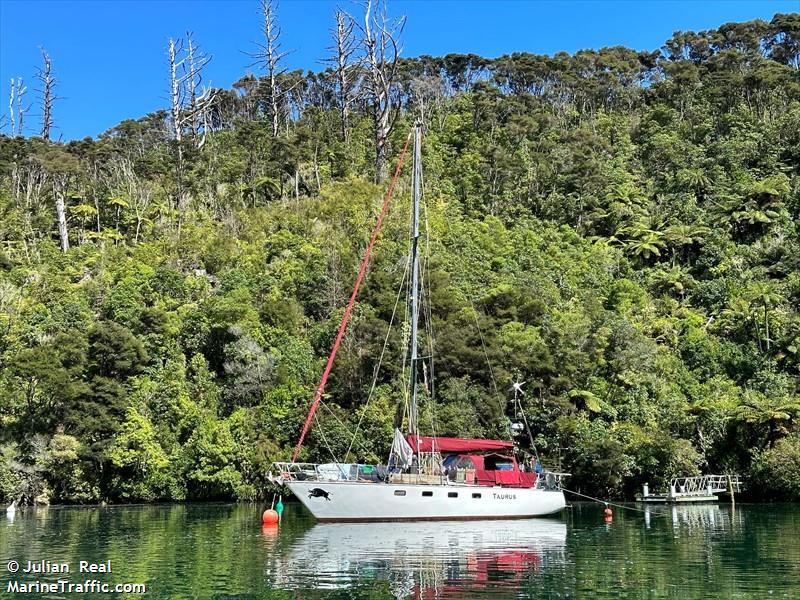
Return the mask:
M 282 0 L 278 19 L 287 66 L 316 70 L 329 46 L 334 8 L 360 11 L 350 0 Z M 800 0 L 759 1 L 488 1 L 390 0 L 406 15 L 403 54 L 527 51 L 625 45 L 656 49 L 676 30 L 729 21 L 769 20 L 800 10 Z M 55 108 L 56 137 L 96 136 L 125 118 L 167 104 L 165 47 L 170 36 L 194 32 L 214 56 L 211 83 L 228 87 L 248 72 L 245 54 L 258 39 L 256 0 L 0 0 L 0 114 L 8 113 L 8 82 L 22 76 L 34 100 L 39 46 L 47 49 L 63 98 Z M 34 107 L 27 133 L 39 126 Z

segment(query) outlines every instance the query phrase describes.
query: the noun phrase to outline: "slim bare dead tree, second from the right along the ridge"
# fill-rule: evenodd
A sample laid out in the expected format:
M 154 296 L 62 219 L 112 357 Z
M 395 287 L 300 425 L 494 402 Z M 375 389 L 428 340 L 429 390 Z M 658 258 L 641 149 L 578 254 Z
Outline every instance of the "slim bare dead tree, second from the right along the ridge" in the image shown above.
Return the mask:
M 341 9 L 336 10 L 336 27 L 331 30 L 333 56 L 325 62 L 332 65 L 342 127 L 342 140 L 350 138 L 350 105 L 355 99 L 362 61 L 358 59 L 359 41 L 354 34 L 355 21 Z

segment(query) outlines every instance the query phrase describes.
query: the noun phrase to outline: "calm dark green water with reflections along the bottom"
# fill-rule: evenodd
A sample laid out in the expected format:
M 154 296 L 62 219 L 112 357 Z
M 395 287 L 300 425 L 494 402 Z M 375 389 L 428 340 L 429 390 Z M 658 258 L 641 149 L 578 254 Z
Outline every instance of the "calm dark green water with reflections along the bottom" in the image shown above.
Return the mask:
M 800 598 L 800 506 L 575 505 L 558 519 L 316 524 L 289 504 L 25 509 L 0 515 L 0 597 Z M 8 572 L 67 562 L 69 574 Z M 111 560 L 111 574 L 78 561 Z M 20 582 L 146 583 L 139 594 L 9 594 Z

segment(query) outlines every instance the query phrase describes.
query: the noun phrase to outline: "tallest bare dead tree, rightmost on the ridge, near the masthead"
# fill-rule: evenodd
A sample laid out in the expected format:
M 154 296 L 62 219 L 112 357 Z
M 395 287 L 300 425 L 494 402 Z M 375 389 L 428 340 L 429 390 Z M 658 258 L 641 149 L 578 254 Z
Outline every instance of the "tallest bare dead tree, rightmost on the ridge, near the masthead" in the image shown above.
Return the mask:
M 367 92 L 372 104 L 375 129 L 375 180 L 386 179 L 389 136 L 394 130 L 400 107 L 392 99 L 392 88 L 397 79 L 400 58 L 398 39 L 405 18 L 390 19 L 385 0 L 378 0 L 372 10 L 372 0 L 364 9 L 364 26 L 361 28 L 364 58 L 367 63 Z

